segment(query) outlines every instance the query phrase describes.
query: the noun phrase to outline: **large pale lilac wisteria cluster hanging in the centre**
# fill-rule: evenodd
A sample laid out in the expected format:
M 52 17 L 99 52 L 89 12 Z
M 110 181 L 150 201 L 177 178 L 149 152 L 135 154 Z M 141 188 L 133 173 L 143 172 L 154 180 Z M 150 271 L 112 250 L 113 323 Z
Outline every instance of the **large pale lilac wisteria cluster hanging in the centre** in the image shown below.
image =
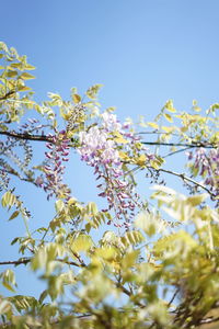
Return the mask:
M 119 157 L 118 144 L 113 138 L 117 132 L 128 139 L 130 146 L 138 137 L 126 132 L 128 125 L 122 125 L 115 114 L 104 112 L 102 123 L 92 126 L 88 132 L 79 134 L 80 147 L 78 149 L 81 160 L 94 167 L 96 180 L 102 180 L 97 188 L 101 190 L 99 196 L 106 197 L 107 208 L 113 209 L 116 219 L 124 218 L 124 223 L 114 223 L 115 226 L 128 228 L 135 216 L 136 207 L 139 207 L 139 196 L 135 192 L 134 183 L 126 180 L 123 162 Z M 111 224 L 108 222 L 108 224 Z

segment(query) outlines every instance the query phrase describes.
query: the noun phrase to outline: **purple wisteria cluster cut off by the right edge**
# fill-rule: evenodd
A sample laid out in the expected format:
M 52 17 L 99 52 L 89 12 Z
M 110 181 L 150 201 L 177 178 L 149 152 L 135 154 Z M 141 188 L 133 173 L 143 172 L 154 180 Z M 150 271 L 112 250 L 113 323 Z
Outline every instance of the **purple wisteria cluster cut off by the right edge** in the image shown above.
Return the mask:
M 208 185 L 215 196 L 219 195 L 219 148 L 207 151 L 198 148 L 195 152 L 188 152 L 188 160 L 194 175 L 205 178 L 204 184 Z

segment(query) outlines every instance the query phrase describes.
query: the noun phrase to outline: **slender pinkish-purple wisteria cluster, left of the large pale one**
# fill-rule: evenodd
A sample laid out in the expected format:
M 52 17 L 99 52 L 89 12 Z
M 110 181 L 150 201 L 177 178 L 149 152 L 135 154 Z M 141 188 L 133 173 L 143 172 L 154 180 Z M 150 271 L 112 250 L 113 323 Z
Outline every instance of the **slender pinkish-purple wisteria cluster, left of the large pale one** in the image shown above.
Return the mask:
M 48 151 L 45 152 L 47 163 L 43 168 L 45 179 L 43 175 L 38 177 L 36 179 L 36 184 L 48 193 L 48 200 L 53 195 L 56 197 L 68 198 L 70 190 L 67 184 L 62 182 L 62 177 L 66 169 L 64 162 L 69 160 L 70 140 L 66 137 L 65 131 L 61 131 L 55 136 L 48 135 L 48 137 L 51 139 L 51 143 L 46 144 L 48 149 Z

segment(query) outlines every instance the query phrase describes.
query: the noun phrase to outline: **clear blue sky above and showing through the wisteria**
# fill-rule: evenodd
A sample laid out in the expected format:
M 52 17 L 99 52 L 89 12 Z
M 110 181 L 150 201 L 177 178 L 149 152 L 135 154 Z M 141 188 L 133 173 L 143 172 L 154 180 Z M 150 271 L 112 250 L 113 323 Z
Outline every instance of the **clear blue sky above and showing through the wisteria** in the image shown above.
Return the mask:
M 71 87 L 82 93 L 103 83 L 104 106 L 115 105 L 120 118 L 141 114 L 148 121 L 168 99 L 185 111 L 194 99 L 203 107 L 218 102 L 218 0 L 10 0 L 0 9 L 0 39 L 37 67 L 31 84 L 39 101 L 48 91 L 69 98 Z M 94 183 L 89 169 L 79 175 L 77 166 L 83 195 L 80 180 Z M 41 203 L 45 196 L 37 197 Z M 9 226 L 14 236 L 13 223 L 2 231 Z

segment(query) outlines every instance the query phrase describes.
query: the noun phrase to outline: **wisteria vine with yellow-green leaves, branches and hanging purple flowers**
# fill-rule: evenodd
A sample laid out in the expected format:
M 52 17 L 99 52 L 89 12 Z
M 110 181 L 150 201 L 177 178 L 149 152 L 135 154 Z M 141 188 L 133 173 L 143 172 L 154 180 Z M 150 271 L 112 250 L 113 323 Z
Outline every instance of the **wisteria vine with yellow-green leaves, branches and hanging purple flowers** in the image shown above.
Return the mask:
M 49 92 L 39 104 L 26 56 L 0 43 L 0 60 L 1 205 L 26 227 L 11 241 L 21 257 L 0 260 L 1 283 L 13 293 L 0 296 L 0 328 L 214 328 L 219 104 L 203 111 L 194 102 L 178 112 L 170 100 L 153 122 L 120 123 L 115 109 L 101 112 L 101 84 L 84 95 L 72 88 L 70 100 Z M 65 182 L 73 151 L 93 168 L 103 208 L 77 200 Z M 178 155 L 186 157 L 182 172 L 172 170 Z M 138 172 L 153 185 L 150 198 L 138 191 Z M 168 175 L 183 192 L 166 186 Z M 31 230 L 34 218 L 14 179 L 54 203 L 48 226 Z M 16 294 L 19 265 L 46 282 L 39 296 Z

